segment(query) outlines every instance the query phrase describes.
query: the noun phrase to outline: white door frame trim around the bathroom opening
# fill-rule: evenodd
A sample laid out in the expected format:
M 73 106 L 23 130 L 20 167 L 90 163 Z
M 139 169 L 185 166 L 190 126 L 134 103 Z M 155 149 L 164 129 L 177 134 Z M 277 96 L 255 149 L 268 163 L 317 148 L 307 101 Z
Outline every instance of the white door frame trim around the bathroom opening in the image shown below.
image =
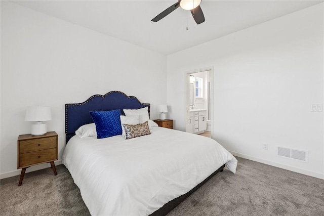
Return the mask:
M 211 125 L 211 138 L 214 138 L 214 66 L 210 66 L 210 67 L 206 67 L 206 68 L 200 68 L 200 69 L 195 69 L 195 70 L 190 70 L 190 71 L 186 71 L 184 73 L 184 82 L 185 82 L 185 104 L 184 104 L 184 111 L 185 111 L 185 131 L 188 131 L 188 122 L 187 119 L 189 118 L 189 75 L 193 74 L 193 73 L 198 73 L 198 72 L 203 72 L 203 71 L 211 71 L 211 78 L 209 80 L 210 85 L 211 85 L 211 97 L 210 97 L 210 106 L 211 106 L 211 120 L 212 120 L 212 125 Z

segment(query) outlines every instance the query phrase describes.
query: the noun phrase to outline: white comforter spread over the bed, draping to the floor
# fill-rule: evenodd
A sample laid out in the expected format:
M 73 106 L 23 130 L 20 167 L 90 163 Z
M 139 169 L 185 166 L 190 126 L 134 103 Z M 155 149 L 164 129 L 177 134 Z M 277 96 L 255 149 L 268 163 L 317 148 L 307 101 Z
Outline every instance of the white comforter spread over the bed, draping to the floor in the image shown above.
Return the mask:
M 92 215 L 148 215 L 237 160 L 216 141 L 163 127 L 125 140 L 74 136 L 63 164 Z

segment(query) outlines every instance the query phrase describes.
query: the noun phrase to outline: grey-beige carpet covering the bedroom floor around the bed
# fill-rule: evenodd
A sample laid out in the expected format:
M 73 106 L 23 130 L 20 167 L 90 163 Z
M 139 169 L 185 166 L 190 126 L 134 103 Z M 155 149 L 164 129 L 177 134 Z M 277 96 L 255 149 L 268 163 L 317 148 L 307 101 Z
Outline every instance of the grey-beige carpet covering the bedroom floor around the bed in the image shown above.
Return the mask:
M 324 215 L 324 180 L 237 158 L 172 210 L 175 215 Z M 1 215 L 90 215 L 64 165 L 1 180 Z

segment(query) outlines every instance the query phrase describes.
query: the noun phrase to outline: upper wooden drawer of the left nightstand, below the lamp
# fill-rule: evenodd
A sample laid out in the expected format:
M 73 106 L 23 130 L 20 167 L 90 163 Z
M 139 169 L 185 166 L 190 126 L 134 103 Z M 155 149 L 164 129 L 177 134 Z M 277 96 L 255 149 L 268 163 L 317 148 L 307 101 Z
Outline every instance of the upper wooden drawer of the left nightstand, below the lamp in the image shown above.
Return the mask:
M 20 141 L 19 153 L 34 152 L 44 149 L 56 148 L 57 137 L 40 138 Z

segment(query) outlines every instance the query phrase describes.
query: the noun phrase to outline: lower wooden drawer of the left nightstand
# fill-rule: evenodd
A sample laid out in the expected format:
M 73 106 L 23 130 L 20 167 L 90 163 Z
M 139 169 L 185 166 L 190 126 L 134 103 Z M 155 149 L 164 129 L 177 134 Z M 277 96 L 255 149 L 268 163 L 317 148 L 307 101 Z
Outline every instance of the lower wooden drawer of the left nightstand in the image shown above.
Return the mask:
M 20 154 L 19 167 L 56 160 L 56 148 Z

